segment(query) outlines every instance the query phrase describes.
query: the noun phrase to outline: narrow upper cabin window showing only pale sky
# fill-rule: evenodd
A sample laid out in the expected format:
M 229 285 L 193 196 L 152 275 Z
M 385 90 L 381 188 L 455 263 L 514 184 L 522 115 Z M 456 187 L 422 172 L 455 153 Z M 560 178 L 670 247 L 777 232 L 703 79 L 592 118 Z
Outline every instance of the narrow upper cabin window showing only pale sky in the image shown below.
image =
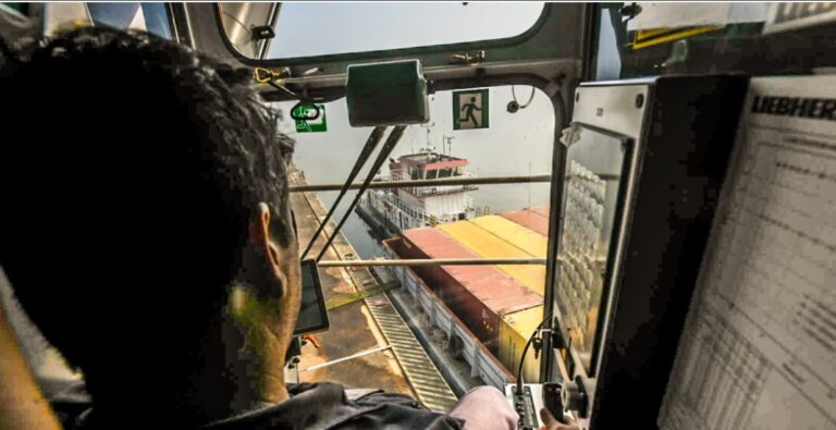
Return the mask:
M 542 2 L 278 3 L 267 59 L 292 59 L 506 39 L 540 19 Z M 263 5 L 259 5 L 263 7 Z M 220 3 L 230 40 L 251 54 L 247 8 Z M 238 46 L 241 45 L 241 46 Z

